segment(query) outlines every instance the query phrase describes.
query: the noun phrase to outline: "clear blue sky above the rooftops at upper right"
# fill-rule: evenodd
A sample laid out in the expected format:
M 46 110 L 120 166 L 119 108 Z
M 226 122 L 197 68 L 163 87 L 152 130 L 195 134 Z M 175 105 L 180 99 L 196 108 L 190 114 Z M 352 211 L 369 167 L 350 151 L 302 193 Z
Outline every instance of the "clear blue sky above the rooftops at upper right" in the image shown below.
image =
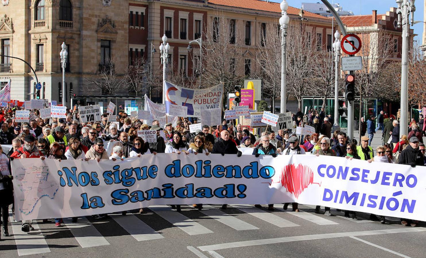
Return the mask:
M 281 0 L 272 0 L 272 2 L 280 3 Z M 300 8 L 302 3 L 317 3 L 321 0 L 287 0 L 290 6 Z M 345 11 L 352 11 L 355 15 L 360 14 L 371 14 L 371 10 L 377 10 L 378 14 L 386 14 L 391 7 L 397 7 L 397 3 L 394 0 L 328 0 L 328 2 L 339 3 Z M 423 1 L 417 0 L 414 2 L 416 11 L 414 11 L 414 20 L 423 21 Z M 414 34 L 417 34 L 418 43 L 421 45 L 423 24 L 417 23 L 414 25 Z

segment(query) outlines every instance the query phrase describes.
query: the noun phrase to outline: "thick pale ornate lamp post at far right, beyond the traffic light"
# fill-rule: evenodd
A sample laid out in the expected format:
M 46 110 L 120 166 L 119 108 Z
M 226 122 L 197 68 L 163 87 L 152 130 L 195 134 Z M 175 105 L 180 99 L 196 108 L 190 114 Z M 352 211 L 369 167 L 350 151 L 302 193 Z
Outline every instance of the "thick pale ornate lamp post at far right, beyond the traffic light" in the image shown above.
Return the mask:
M 401 107 L 400 107 L 400 137 L 408 134 L 408 40 L 411 13 L 411 25 L 414 25 L 414 0 L 396 0 L 398 4 L 398 28 L 402 26 L 402 57 L 401 57 Z

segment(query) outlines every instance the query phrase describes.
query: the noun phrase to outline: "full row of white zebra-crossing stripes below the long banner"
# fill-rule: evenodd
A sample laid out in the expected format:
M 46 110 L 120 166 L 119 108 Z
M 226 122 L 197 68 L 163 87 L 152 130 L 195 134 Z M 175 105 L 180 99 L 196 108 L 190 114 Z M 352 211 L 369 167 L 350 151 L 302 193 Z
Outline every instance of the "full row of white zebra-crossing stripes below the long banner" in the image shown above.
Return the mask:
M 336 221 L 323 218 L 323 216 L 321 215 L 315 215 L 310 212 L 304 212 L 302 210 L 300 212 L 283 212 L 283 209 L 278 207 L 279 205 L 282 204 L 275 205 L 275 209 L 279 212 L 268 212 L 263 209 L 255 208 L 253 205 L 229 205 L 229 207 L 238 209 L 244 212 L 245 214 L 251 215 L 257 219 L 260 219 L 261 221 L 281 228 L 300 226 L 299 224 L 296 224 L 288 219 L 283 218 L 292 218 L 293 216 L 317 225 L 339 224 Z M 188 206 L 182 207 L 187 208 Z M 310 208 L 310 206 L 308 206 L 308 208 Z M 176 212 L 169 206 L 149 206 L 148 209 L 150 209 L 159 217 L 173 224 L 173 226 L 182 230 L 187 235 L 202 235 L 213 233 L 211 229 L 208 229 L 207 227 L 201 225 L 199 222 L 188 218 L 182 213 Z M 191 209 L 190 211 L 201 212 L 202 214 L 212 218 L 214 221 L 224 224 L 237 231 L 259 229 L 258 226 L 249 224 L 248 222 L 243 221 L 241 218 L 236 218 L 235 214 L 229 214 L 210 205 L 204 205 L 201 211 L 193 209 Z M 121 226 L 121 228 L 127 231 L 136 241 L 150 241 L 164 238 L 161 233 L 155 231 L 155 229 L 145 224 L 145 222 L 142 221 L 141 216 L 136 216 L 134 214 L 128 214 L 125 216 L 119 214 L 110 214 L 109 216 L 119 226 Z M 336 216 L 335 218 L 340 220 L 344 217 Z M 354 223 L 364 223 L 348 218 L 344 219 L 345 220 L 343 221 L 348 220 L 353 221 Z M 17 253 L 19 256 L 51 252 L 49 245 L 46 242 L 45 236 L 43 235 L 43 230 L 40 230 L 40 225 L 37 224 L 37 222 L 34 222 L 32 224 L 35 231 L 31 231 L 29 233 L 22 232 L 21 223 L 14 222 L 12 216 L 10 216 L 9 222 L 11 224 L 11 229 L 13 232 L 12 238 L 14 238 Z M 69 229 L 69 231 L 72 233 L 72 235 L 82 248 L 110 245 L 107 239 L 101 234 L 101 232 L 98 231 L 96 226 L 92 224 L 86 217 L 78 218 L 77 223 L 71 223 L 66 221 L 65 226 Z

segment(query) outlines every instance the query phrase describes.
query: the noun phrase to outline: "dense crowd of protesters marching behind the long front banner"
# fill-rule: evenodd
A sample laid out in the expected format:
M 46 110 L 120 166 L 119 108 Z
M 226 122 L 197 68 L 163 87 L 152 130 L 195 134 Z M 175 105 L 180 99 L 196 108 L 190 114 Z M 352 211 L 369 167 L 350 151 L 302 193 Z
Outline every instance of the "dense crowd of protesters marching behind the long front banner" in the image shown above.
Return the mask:
M 38 110 L 33 110 L 38 115 Z M 325 115 L 323 109 L 320 111 L 311 109 L 304 115 L 300 110 L 293 116 L 293 125 L 310 125 L 315 129 L 312 135 L 300 137 L 291 129 L 280 129 L 274 132 L 268 129 L 260 135 L 254 135 L 248 127 L 236 124 L 234 121 L 223 120 L 217 126 L 203 125 L 201 130 L 190 132 L 190 120 L 179 118 L 175 126 L 166 123 L 164 128 L 158 120 L 150 124 L 143 123 L 128 116 L 124 112 L 118 115 L 102 115 L 101 121 L 92 123 L 80 123 L 78 112 L 70 109 L 66 118 L 50 118 L 29 121 L 29 123 L 16 123 L 14 121 L 14 109 L 0 109 L 0 143 L 12 145 L 8 153 L 4 153 L 0 146 L 0 212 L 3 215 L 3 235 L 9 235 L 7 221 L 9 205 L 13 204 L 13 187 L 10 161 L 15 158 L 50 158 L 57 160 L 118 160 L 131 157 L 140 157 L 146 154 L 156 153 L 184 153 L 184 154 L 234 154 L 242 155 L 242 150 L 259 155 L 302 155 L 312 154 L 316 156 L 338 156 L 347 159 L 360 159 L 368 162 L 400 163 L 410 166 L 424 166 L 426 163 L 425 146 L 423 136 L 425 135 L 425 120 L 419 123 L 413 121 L 410 124 L 408 135 L 399 138 L 399 123 L 392 116 L 384 123 L 386 114 L 380 112 L 376 119 L 370 116 L 367 121 L 362 118 L 360 143 L 356 139 L 349 139 L 345 132 L 335 130 L 331 115 Z M 378 130 L 383 132 L 383 144 L 373 149 L 371 140 Z M 138 137 L 138 130 L 156 131 L 157 142 L 147 143 Z M 368 136 L 367 136 L 367 135 Z M 114 143 L 112 151 L 107 153 L 105 144 Z M 288 209 L 288 203 L 283 208 Z M 298 212 L 298 204 L 293 203 L 292 210 Z M 201 209 L 202 204 L 194 204 Z M 262 208 L 256 204 L 256 207 Z M 179 205 L 172 208 L 180 211 Z M 223 204 L 222 209 L 227 205 Z M 273 204 L 268 205 L 268 210 L 273 211 Z M 140 209 L 143 212 L 143 209 Z M 315 212 L 320 213 L 320 206 Z M 345 216 L 355 212 L 345 212 Z M 123 215 L 126 212 L 122 213 Z M 325 207 L 325 215 L 332 215 L 330 208 Z M 105 215 L 95 215 L 102 218 Z M 380 222 L 385 223 L 384 217 L 378 217 Z M 77 218 L 72 218 L 77 221 Z M 61 226 L 63 220 L 55 218 L 55 225 Z M 401 219 L 406 226 L 416 226 L 416 221 Z M 29 232 L 33 230 L 31 221 L 23 221 L 22 230 Z

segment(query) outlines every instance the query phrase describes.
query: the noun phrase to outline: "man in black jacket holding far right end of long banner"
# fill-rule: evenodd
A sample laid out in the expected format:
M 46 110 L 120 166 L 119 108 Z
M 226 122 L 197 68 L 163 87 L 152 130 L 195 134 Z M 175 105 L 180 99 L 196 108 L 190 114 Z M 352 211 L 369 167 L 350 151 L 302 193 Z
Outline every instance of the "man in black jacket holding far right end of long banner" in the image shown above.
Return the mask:
M 424 166 L 423 153 L 419 150 L 419 139 L 417 137 L 410 138 L 409 146 L 401 152 L 398 164 L 406 164 L 412 167 L 416 165 Z M 401 218 L 401 224 L 404 226 L 417 226 L 417 221 Z

